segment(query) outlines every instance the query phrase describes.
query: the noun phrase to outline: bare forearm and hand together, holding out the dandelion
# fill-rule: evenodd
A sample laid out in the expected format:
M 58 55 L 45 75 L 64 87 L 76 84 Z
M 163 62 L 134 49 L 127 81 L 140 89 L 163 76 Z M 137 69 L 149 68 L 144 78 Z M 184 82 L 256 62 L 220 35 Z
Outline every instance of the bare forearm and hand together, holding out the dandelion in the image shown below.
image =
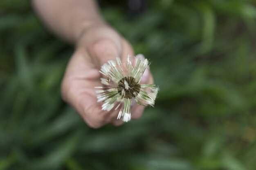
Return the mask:
M 116 57 L 125 62 L 128 54 L 134 55 L 132 46 L 104 22 L 93 0 L 34 0 L 33 7 L 50 30 L 75 46 L 62 81 L 63 100 L 92 128 L 123 124 L 117 120 L 118 109 L 101 110 L 94 87 L 102 86 L 101 65 Z M 141 84 L 153 84 L 149 70 L 144 72 Z M 140 118 L 143 111 L 143 106 L 132 105 L 131 118 Z

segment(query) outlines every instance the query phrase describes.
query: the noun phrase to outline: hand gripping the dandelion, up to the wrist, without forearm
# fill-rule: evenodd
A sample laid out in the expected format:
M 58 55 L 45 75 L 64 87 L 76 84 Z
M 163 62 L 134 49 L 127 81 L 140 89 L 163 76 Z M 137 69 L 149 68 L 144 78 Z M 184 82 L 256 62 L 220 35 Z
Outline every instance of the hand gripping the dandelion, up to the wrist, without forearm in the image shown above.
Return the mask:
M 130 44 L 105 24 L 87 28 L 77 41 L 62 82 L 63 99 L 72 105 L 83 120 L 92 128 L 112 123 L 123 124 L 117 120 L 119 110 L 102 111 L 101 102 L 97 102 L 95 86 L 102 86 L 99 73 L 101 65 L 120 57 L 122 62 L 127 56 L 133 56 Z M 153 77 L 146 69 L 141 84 L 153 84 Z M 140 118 L 144 107 L 136 103 L 131 107 L 131 118 Z

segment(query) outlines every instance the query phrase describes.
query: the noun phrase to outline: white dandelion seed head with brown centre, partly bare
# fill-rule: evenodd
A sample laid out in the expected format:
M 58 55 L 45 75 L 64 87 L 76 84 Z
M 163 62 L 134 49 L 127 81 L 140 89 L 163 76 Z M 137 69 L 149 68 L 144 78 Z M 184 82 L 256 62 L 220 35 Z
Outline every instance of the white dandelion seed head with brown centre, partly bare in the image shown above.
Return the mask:
M 159 90 L 153 84 L 139 84 L 141 77 L 148 67 L 148 60 L 139 54 L 132 64 L 131 57 L 127 57 L 125 65 L 119 58 L 108 61 L 101 66 L 99 72 L 107 78 L 101 78 L 105 86 L 95 87 L 98 102 L 103 102 L 102 110 L 110 111 L 120 107 L 117 119 L 128 122 L 131 119 L 130 105 L 135 100 L 139 105 L 154 106 L 155 98 Z

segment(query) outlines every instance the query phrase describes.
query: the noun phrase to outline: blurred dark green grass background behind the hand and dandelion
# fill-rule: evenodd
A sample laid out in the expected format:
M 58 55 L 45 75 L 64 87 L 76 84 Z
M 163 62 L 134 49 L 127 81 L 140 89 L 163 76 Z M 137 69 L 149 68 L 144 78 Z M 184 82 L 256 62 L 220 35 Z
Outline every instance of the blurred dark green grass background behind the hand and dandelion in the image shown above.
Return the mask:
M 141 119 L 94 130 L 61 100 L 74 49 L 30 1 L 0 0 L 0 170 L 255 170 L 255 5 L 151 0 L 132 15 L 102 1 L 160 92 Z

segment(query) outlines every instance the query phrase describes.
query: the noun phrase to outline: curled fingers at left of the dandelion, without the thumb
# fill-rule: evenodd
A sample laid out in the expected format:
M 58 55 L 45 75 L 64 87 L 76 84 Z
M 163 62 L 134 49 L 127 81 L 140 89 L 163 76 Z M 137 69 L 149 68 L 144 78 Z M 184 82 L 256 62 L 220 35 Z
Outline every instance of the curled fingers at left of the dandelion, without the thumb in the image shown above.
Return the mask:
M 95 86 L 100 86 L 100 73 L 91 63 L 85 50 L 77 50 L 67 66 L 62 81 L 63 100 L 72 105 L 88 126 L 99 128 L 109 123 L 109 112 L 101 110 Z

